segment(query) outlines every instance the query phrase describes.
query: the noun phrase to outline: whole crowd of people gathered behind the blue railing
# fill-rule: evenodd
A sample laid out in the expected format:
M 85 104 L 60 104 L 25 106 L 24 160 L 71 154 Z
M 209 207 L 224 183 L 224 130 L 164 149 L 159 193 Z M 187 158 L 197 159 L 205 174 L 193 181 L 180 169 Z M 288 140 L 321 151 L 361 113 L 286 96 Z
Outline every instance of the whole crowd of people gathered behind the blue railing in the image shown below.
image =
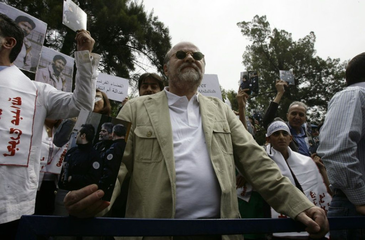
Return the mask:
M 35 213 L 78 218 L 290 217 L 303 223 L 306 232 L 244 237 L 324 239 L 330 230 L 326 216 L 338 216 L 339 209 L 349 216 L 365 215 L 365 53 L 349 62 L 349 87 L 329 102 L 316 152 L 305 140 L 303 102 L 290 105 L 288 122 L 276 118 L 288 85 L 283 80 L 276 81 L 277 95 L 263 116 L 265 148 L 249 133 L 255 133 L 257 122 L 246 122 L 249 89 L 238 91 L 239 117 L 221 100 L 197 93 L 205 59 L 190 42 L 178 43 L 166 54 L 168 86 L 160 76 L 146 73 L 138 81 L 139 97 L 122 101 L 117 118 L 132 123 L 126 143 L 120 124 L 103 123 L 96 144 L 95 127 L 84 124 L 67 150 L 81 110 L 111 114 L 107 95 L 95 88 L 100 61 L 92 53 L 95 41 L 88 31 L 77 32 L 75 90 L 67 93 L 30 80 L 12 64 L 23 39 L 18 24 L 0 14 L 0 131 L 2 149 L 7 149 L 0 156 L 0 236 L 14 239 L 20 217 Z M 59 60 L 54 59 L 55 66 Z M 44 171 L 45 159 L 57 153 L 64 159 L 60 174 Z M 330 238 L 364 239 L 362 231 L 331 231 Z M 205 239 L 243 236 L 174 237 Z

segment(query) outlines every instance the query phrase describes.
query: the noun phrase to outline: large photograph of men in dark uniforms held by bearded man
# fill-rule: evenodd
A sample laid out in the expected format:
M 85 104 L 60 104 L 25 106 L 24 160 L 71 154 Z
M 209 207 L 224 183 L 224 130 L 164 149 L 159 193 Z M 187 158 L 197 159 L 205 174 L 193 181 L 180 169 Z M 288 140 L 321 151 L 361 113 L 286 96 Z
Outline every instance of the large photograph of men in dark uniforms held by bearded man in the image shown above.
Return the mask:
M 69 141 L 59 188 L 77 190 L 98 184 L 110 201 L 131 123 L 81 110 Z

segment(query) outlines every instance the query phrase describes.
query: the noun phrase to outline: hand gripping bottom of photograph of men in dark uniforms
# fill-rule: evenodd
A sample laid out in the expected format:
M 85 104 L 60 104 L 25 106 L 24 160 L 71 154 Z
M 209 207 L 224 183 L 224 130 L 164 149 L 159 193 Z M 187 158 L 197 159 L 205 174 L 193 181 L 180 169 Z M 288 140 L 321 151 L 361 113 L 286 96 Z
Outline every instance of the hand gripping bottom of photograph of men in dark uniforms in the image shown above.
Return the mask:
M 92 184 L 79 190 L 70 191 L 63 199 L 69 215 L 78 218 L 90 218 L 104 210 L 110 202 L 103 201 L 102 190 L 98 190 L 98 185 Z

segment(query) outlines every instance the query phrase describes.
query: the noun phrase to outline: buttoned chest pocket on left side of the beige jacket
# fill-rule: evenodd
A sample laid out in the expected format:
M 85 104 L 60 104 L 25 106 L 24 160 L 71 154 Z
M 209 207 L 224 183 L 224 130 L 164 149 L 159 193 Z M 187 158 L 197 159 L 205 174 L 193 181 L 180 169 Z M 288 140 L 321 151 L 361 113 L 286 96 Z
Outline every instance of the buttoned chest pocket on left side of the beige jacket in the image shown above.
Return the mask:
M 137 162 L 159 162 L 163 159 L 160 145 L 151 125 L 136 126 L 134 160 Z

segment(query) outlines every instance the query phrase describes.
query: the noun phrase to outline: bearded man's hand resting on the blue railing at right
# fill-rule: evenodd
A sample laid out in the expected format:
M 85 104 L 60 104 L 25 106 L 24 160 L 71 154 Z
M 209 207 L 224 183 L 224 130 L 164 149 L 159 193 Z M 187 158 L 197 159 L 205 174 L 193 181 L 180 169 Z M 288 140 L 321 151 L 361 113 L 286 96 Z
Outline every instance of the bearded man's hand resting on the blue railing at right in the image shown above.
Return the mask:
M 311 207 L 297 215 L 295 220 L 303 223 L 305 231 L 313 239 L 323 238 L 329 231 L 329 224 L 326 213 L 319 207 Z

